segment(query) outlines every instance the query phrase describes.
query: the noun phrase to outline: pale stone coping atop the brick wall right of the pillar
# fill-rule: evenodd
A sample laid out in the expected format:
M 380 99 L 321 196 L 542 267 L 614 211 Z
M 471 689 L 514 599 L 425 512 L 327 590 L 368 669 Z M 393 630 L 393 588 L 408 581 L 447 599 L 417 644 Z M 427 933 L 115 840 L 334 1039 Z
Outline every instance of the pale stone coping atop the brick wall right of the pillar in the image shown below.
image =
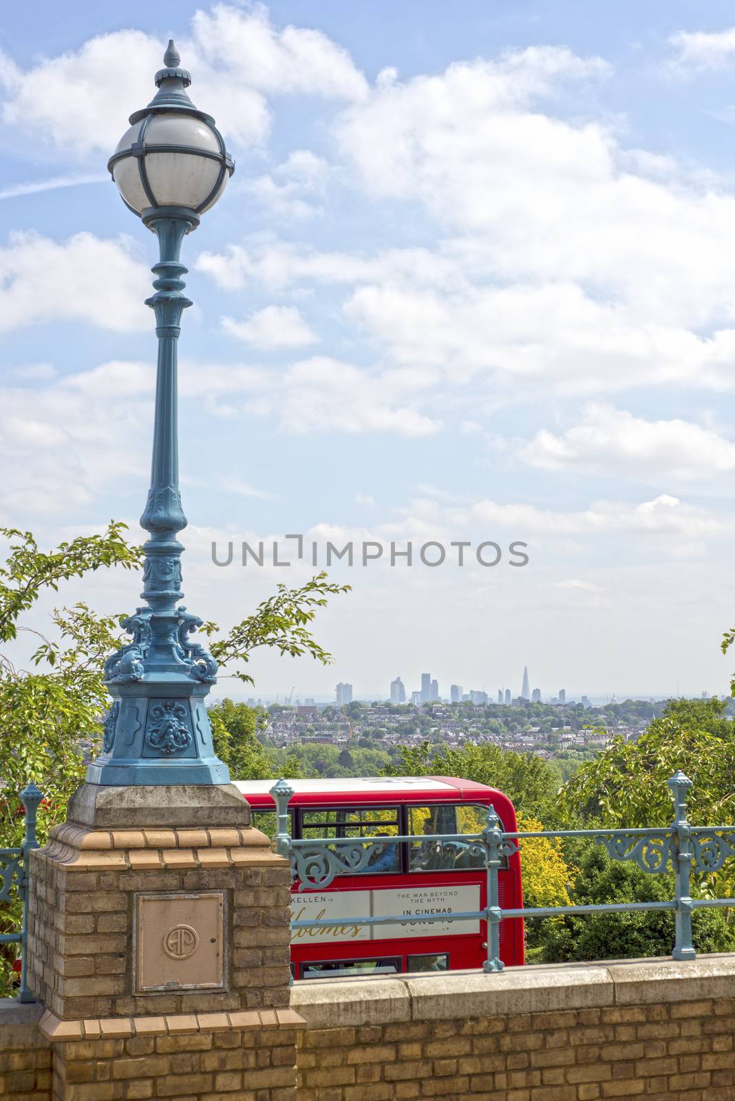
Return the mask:
M 732 998 L 734 991 L 735 952 L 727 952 L 687 962 L 665 957 L 512 967 L 491 974 L 445 971 L 391 979 L 309 979 L 294 985 L 290 1006 L 309 1028 L 341 1028 L 691 1002 Z

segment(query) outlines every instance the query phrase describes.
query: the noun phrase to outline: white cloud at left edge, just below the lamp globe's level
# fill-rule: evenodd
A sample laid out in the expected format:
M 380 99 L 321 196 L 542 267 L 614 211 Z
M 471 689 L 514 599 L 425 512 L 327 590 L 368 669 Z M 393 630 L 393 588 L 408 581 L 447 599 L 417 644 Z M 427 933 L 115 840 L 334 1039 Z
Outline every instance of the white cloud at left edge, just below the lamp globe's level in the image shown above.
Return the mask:
M 0 248 L 0 331 L 61 318 L 116 333 L 150 327 L 141 293 L 149 277 L 128 238 L 12 233 Z

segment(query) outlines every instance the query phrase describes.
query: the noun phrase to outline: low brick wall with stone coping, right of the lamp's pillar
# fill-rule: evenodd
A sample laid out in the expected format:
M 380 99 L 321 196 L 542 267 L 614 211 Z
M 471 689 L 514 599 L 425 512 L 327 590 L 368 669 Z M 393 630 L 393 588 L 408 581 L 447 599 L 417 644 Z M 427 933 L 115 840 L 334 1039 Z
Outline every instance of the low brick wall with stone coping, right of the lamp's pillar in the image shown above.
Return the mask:
M 735 957 L 299 984 L 298 1101 L 733 1101 Z

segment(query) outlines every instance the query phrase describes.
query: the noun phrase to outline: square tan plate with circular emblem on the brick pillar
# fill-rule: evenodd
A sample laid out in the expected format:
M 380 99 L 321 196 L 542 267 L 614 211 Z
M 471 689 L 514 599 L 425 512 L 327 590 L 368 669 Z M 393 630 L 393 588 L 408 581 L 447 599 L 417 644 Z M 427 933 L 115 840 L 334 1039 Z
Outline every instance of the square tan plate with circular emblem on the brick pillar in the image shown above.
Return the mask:
M 135 894 L 133 990 L 224 989 L 224 892 Z

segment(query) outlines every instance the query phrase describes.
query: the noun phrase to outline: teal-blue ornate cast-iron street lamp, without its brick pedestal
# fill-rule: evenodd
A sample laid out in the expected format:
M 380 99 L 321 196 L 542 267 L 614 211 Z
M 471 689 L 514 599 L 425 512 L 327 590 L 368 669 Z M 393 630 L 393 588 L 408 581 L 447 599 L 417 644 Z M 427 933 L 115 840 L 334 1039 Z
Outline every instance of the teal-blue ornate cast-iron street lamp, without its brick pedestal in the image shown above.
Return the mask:
M 155 76 L 158 91 L 130 117 L 108 167 L 123 203 L 158 238 L 155 294 L 146 299 L 158 338 L 151 488 L 141 525 L 144 607 L 123 622 L 132 641 L 105 663 L 112 706 L 105 722 L 102 753 L 87 770 L 91 784 L 226 784 L 227 765 L 217 757 L 205 699 L 216 682 L 217 662 L 193 635 L 197 615 L 179 604 L 177 539 L 186 527 L 178 488 L 177 344 L 182 312 L 182 241 L 221 197 L 234 171 L 215 120 L 187 95 L 191 77 L 180 68 L 173 42 Z

